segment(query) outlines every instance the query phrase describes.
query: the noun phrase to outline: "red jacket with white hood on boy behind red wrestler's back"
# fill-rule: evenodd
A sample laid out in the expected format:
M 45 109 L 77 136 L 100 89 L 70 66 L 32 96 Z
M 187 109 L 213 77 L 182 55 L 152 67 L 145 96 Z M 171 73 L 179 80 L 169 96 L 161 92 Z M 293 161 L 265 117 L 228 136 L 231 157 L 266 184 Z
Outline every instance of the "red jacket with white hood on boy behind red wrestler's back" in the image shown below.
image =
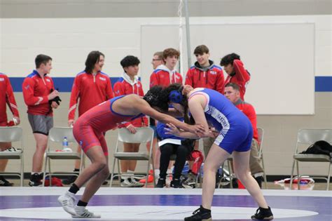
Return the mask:
M 130 79 L 130 76 L 127 74 L 123 74 L 120 79 L 114 84 L 114 95 L 116 97 L 120 95 L 130 95 L 130 94 L 137 94 L 139 96 L 144 96 L 143 88 L 141 86 L 141 81 L 135 77 L 134 81 Z M 148 126 L 148 118 L 146 116 L 139 117 L 134 119 L 133 121 L 123 123 L 122 125 L 118 126 L 118 128 L 123 128 L 130 126 L 132 124 L 134 127 L 142 127 Z

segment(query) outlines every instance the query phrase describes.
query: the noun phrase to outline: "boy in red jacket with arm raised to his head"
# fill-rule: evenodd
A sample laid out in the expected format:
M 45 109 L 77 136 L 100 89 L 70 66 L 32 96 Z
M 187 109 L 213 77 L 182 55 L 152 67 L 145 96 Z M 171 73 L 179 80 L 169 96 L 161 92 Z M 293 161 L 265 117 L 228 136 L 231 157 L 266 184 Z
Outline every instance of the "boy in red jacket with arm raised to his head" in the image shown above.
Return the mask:
M 250 80 L 249 72 L 244 69 L 244 65 L 240 60 L 240 55 L 231 53 L 221 59 L 220 65 L 223 66 L 225 72 L 228 74 L 226 77 L 225 85 L 227 83 L 236 83 L 240 87 L 240 97 L 244 100 L 246 87 Z

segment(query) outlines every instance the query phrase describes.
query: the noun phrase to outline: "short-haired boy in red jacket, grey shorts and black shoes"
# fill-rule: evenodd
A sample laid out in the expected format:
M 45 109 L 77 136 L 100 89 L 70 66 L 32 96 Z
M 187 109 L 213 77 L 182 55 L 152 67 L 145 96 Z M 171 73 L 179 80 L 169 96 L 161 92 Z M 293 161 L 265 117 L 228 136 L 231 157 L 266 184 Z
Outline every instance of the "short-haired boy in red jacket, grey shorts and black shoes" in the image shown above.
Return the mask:
M 37 55 L 35 63 L 36 69 L 25 78 L 22 84 L 28 119 L 36 140 L 29 186 L 42 185 L 41 169 L 48 132 L 50 128 L 53 128 L 53 108 L 56 109 L 61 101 L 58 91 L 54 89 L 53 80 L 48 76 L 52 69 L 52 58 L 48 55 Z

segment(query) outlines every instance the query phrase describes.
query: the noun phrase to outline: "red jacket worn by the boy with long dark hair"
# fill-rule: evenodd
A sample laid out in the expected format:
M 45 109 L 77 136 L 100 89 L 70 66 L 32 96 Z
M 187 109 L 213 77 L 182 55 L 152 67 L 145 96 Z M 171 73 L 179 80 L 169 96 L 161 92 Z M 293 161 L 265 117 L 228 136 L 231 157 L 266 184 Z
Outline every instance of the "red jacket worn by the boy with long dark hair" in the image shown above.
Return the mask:
M 98 72 L 95 76 L 86 72 L 80 72 L 74 79 L 71 88 L 68 119 L 74 120 L 78 98 L 78 116 L 88 109 L 113 98 L 111 80 L 104 72 Z

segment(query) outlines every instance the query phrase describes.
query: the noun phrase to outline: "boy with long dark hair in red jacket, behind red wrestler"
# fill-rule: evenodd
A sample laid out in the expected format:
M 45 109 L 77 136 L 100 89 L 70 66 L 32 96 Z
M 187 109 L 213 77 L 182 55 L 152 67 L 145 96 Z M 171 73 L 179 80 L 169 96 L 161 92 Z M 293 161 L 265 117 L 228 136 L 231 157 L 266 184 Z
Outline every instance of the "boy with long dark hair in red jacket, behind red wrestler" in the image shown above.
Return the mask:
M 91 51 L 85 60 L 85 69 L 76 75 L 69 103 L 68 125 L 74 126 L 75 112 L 78 103 L 78 116 L 84 114 L 88 109 L 114 97 L 111 80 L 102 72 L 105 56 L 99 51 Z M 77 152 L 81 154 L 78 145 Z M 81 161 L 75 161 L 74 172 L 79 173 Z M 69 185 L 76 180 L 76 176 L 62 180 L 63 184 Z

